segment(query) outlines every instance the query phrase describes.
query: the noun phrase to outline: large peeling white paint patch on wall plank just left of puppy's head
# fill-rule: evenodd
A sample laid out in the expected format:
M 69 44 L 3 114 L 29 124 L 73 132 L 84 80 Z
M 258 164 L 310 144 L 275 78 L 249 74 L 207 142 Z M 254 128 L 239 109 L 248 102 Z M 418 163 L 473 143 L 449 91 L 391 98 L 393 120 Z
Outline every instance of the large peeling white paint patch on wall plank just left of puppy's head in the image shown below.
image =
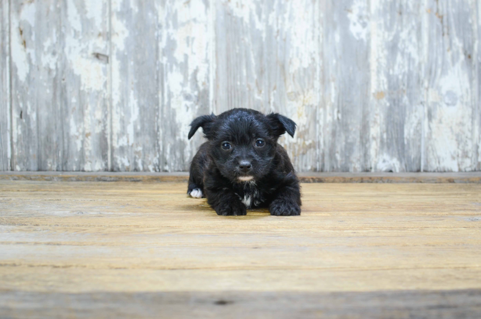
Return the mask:
M 201 0 L 168 3 L 159 14 L 159 20 L 164 23 L 160 42 L 164 52 L 161 61 L 164 100 L 160 103 L 173 110 L 175 115 L 173 123 L 161 121 L 159 125 L 165 128 L 174 125 L 178 130 L 175 136 L 169 136 L 173 145 L 160 145 L 166 162 L 163 169 L 184 170 L 187 168 L 184 159 L 190 158 L 195 151 L 192 143 L 185 144 L 188 125 L 198 114 L 200 90 L 208 90 L 210 86 L 211 68 L 208 61 L 209 50 L 213 47 L 209 46 L 209 14 Z M 173 16 L 177 19 L 172 19 Z M 178 145 L 185 147 L 178 149 Z

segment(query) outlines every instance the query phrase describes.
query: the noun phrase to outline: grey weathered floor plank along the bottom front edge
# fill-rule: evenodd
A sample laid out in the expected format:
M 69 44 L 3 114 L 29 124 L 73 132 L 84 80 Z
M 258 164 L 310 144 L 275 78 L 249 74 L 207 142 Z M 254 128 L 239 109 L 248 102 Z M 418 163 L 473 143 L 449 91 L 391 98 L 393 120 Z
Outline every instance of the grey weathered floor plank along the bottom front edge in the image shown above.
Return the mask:
M 327 293 L 0 291 L 0 310 L 5 315 L 3 318 L 31 319 L 479 319 L 480 299 L 481 290 Z

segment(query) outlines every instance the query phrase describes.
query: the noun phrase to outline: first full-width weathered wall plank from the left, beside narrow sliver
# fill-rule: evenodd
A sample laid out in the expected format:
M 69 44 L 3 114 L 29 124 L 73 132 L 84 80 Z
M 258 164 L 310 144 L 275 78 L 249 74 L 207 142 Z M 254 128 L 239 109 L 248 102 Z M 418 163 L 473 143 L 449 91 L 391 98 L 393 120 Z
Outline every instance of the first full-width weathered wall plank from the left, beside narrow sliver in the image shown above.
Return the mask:
M 60 2 L 11 4 L 13 168 L 61 170 Z

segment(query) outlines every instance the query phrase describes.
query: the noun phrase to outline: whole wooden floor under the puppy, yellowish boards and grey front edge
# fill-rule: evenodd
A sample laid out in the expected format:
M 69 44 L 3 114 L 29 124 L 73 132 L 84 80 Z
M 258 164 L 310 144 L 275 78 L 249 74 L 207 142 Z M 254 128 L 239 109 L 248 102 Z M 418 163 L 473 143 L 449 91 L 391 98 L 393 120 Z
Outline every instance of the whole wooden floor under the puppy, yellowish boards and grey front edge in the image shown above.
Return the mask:
M 481 184 L 302 184 L 296 217 L 186 187 L 0 180 L 0 318 L 481 318 Z

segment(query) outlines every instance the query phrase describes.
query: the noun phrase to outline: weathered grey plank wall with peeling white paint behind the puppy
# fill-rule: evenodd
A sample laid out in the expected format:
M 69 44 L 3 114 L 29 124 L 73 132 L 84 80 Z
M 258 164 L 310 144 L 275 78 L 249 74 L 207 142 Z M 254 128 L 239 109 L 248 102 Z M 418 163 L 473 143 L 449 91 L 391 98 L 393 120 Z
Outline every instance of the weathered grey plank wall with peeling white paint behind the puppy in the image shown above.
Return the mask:
M 479 0 L 3 0 L 0 170 L 183 171 L 195 117 L 299 171 L 481 170 Z

